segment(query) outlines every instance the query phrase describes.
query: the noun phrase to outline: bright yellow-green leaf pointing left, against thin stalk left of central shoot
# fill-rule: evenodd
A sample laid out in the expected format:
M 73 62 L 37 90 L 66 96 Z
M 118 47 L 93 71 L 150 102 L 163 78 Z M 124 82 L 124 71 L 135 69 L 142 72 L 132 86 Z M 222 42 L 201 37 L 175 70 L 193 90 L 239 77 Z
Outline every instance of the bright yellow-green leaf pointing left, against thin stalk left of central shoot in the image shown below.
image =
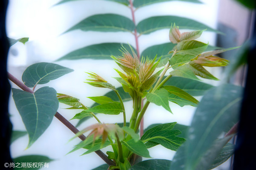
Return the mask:
M 120 103 L 105 103 L 105 104 L 97 105 L 97 106 L 94 106 L 93 108 L 84 110 L 83 112 L 119 114 L 120 112 L 123 112 L 123 110 Z

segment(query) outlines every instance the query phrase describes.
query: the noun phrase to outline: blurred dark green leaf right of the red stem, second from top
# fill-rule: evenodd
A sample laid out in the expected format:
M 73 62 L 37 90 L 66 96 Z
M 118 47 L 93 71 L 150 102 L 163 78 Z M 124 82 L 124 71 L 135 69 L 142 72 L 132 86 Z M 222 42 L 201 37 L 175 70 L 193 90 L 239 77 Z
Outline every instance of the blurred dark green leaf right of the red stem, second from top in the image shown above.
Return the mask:
M 150 17 L 140 21 L 136 28 L 140 34 L 149 34 L 160 29 L 170 29 L 173 23 L 175 23 L 176 26 L 179 26 L 180 29 L 207 29 L 207 31 L 214 31 L 220 33 L 219 31 L 212 29 L 202 23 L 199 23 L 198 21 L 176 16 Z

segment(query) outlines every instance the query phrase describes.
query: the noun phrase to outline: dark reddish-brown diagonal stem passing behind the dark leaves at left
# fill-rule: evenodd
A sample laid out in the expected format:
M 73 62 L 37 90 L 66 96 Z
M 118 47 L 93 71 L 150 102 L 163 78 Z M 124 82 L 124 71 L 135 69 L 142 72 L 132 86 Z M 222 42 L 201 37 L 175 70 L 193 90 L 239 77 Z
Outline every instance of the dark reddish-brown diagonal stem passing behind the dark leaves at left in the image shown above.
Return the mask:
M 15 78 L 12 74 L 8 73 L 8 79 L 14 82 L 17 86 L 19 86 L 23 91 L 29 92 L 29 93 L 34 93 L 30 88 L 28 88 L 26 85 L 24 85 L 22 82 L 20 82 L 17 78 Z M 61 121 L 66 127 L 68 127 L 73 133 L 79 133 L 80 131 L 72 125 L 67 119 L 65 119 L 60 113 L 56 112 L 55 117 Z M 86 137 L 81 134 L 78 136 L 82 141 L 86 139 Z M 96 150 L 95 153 L 99 155 L 108 165 L 113 165 L 115 166 L 115 163 L 108 159 L 108 156 L 106 156 L 101 150 Z

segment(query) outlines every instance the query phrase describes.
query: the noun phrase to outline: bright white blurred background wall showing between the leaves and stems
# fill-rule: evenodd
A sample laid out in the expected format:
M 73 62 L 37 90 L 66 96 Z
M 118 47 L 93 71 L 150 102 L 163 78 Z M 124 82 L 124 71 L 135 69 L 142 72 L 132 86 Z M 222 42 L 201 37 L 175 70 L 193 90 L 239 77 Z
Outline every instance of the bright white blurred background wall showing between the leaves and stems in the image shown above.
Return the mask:
M 54 62 L 65 54 L 79 49 L 81 47 L 103 43 L 103 42 L 124 42 L 135 46 L 134 36 L 129 33 L 102 33 L 80 30 L 70 31 L 62 34 L 68 28 L 93 14 L 116 13 L 131 18 L 129 8 L 104 0 L 84 0 L 53 6 L 59 0 L 9 0 L 7 11 L 7 35 L 10 38 L 18 39 L 20 37 L 29 37 L 29 42 L 25 45 L 16 43 L 10 48 L 8 58 L 8 71 L 21 80 L 21 75 L 27 66 L 35 62 Z M 151 6 L 140 8 L 136 11 L 136 22 L 159 15 L 177 15 L 198 20 L 202 23 L 216 28 L 218 0 L 201 0 L 204 4 L 193 4 L 185 2 L 164 2 Z M 117 9 L 117 11 L 113 11 Z M 145 48 L 169 42 L 169 30 L 164 29 L 155 31 L 148 35 L 142 35 L 139 39 L 140 51 Z M 215 34 L 204 32 L 201 41 L 215 45 Z M 119 83 L 111 77 L 118 77 L 113 70 L 117 65 L 112 60 L 64 60 L 55 62 L 56 64 L 72 68 L 75 71 L 59 79 L 49 82 L 47 85 L 56 89 L 58 93 L 69 94 L 81 100 L 85 105 L 92 105 L 92 101 L 87 96 L 101 96 L 108 92 L 108 89 L 94 88 L 84 83 L 87 75 L 84 72 L 95 72 L 116 87 Z M 215 71 L 218 74 L 218 71 Z M 214 83 L 214 82 L 211 82 Z M 45 85 L 38 85 L 40 88 Z M 12 87 L 17 86 L 12 84 Z M 11 94 L 12 95 L 12 94 Z M 199 98 L 198 98 L 199 99 Z M 127 119 L 131 116 L 131 102 L 125 102 Z M 130 107 L 130 108 L 129 108 Z M 153 123 L 178 122 L 183 125 L 189 125 L 195 108 L 184 106 L 183 108 L 170 103 L 174 114 L 165 111 L 163 108 L 154 104 L 149 105 L 145 114 L 145 127 Z M 60 105 L 58 111 L 66 118 L 71 119 L 78 111 L 65 110 L 65 105 Z M 13 123 L 14 130 L 26 130 L 19 113 L 15 107 L 12 97 L 9 102 L 9 113 Z M 156 117 L 157 115 L 157 117 Z M 122 114 L 115 116 L 106 116 L 98 114 L 102 122 L 115 123 L 122 122 Z M 76 120 L 71 121 L 74 125 Z M 82 129 L 96 123 L 90 119 L 79 127 Z M 12 157 L 40 154 L 56 159 L 49 164 L 48 170 L 90 170 L 103 164 L 96 153 L 90 153 L 85 156 L 79 156 L 84 151 L 78 150 L 65 156 L 77 144 L 79 139 L 69 143 L 68 140 L 73 137 L 73 133 L 61 124 L 56 118 L 36 141 L 32 147 L 27 150 L 28 136 L 24 136 L 11 145 Z M 107 151 L 102 149 L 102 151 Z M 154 159 L 172 159 L 174 151 L 167 150 L 162 146 L 156 146 L 149 149 L 151 157 Z

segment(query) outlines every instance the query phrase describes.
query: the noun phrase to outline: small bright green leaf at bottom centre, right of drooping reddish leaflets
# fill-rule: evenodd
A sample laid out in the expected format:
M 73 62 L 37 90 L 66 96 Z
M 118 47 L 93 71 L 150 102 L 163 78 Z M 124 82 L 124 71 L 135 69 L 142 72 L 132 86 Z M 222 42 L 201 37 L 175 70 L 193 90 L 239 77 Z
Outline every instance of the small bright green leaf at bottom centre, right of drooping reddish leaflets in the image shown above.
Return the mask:
M 131 150 L 136 155 L 142 156 L 145 158 L 151 158 L 149 156 L 147 147 L 141 140 L 138 140 L 137 142 L 135 142 L 134 139 L 130 139 L 128 142 L 125 142 L 125 141 L 121 141 L 121 142 L 128 148 L 128 150 Z

